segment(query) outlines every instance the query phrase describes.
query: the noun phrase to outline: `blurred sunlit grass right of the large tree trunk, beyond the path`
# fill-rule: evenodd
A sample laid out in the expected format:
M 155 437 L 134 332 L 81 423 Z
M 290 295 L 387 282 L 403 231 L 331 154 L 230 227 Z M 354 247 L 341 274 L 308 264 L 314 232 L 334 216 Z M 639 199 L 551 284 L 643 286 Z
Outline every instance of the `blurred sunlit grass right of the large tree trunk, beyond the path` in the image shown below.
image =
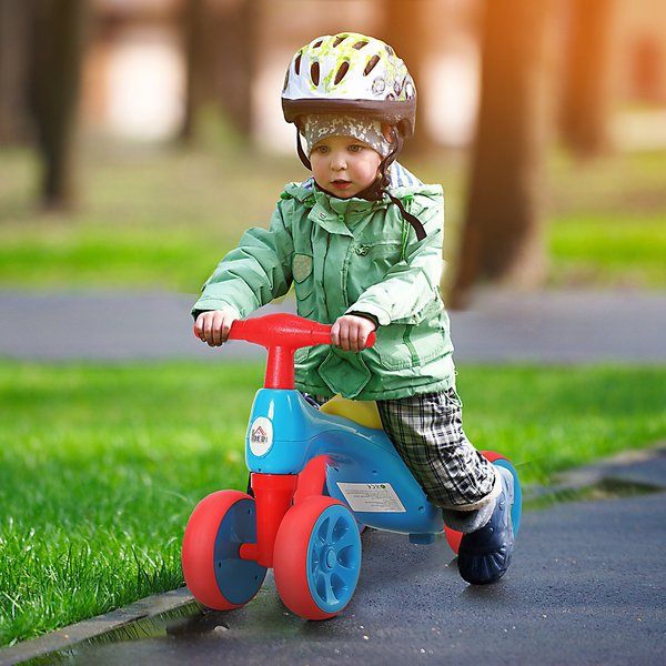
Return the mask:
M 553 283 L 666 286 L 665 165 L 658 151 L 554 160 Z

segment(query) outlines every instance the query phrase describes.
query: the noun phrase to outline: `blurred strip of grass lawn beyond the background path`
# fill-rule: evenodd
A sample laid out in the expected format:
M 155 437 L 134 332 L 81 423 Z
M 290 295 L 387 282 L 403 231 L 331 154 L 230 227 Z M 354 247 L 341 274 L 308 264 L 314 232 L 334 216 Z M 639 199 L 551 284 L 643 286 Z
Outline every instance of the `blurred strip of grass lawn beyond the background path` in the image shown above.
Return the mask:
M 124 148 L 124 150 L 122 150 Z M 454 262 L 467 163 L 443 152 L 405 162 L 446 193 Z M 37 163 L 0 152 L 0 286 L 142 287 L 194 293 L 249 226 L 264 226 L 295 157 L 213 148 L 88 145 L 77 213 L 34 204 Z M 666 287 L 666 152 L 572 162 L 554 153 L 545 223 L 553 285 Z

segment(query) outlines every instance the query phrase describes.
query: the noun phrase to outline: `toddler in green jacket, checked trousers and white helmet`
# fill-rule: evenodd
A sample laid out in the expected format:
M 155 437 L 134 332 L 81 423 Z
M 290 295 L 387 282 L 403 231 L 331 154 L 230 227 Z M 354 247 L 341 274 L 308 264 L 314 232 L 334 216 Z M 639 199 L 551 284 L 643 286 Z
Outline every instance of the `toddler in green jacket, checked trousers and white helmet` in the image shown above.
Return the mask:
M 414 82 L 384 42 L 324 36 L 293 57 L 282 108 L 312 176 L 285 185 L 270 228 L 245 232 L 218 265 L 192 309 L 195 332 L 221 345 L 235 319 L 293 285 L 297 313 L 332 324 L 333 342 L 296 352 L 296 387 L 320 404 L 376 401 L 398 454 L 463 533 L 461 575 L 493 583 L 513 553 L 513 477 L 463 431 L 440 295 L 443 192 L 396 162 L 414 132 Z

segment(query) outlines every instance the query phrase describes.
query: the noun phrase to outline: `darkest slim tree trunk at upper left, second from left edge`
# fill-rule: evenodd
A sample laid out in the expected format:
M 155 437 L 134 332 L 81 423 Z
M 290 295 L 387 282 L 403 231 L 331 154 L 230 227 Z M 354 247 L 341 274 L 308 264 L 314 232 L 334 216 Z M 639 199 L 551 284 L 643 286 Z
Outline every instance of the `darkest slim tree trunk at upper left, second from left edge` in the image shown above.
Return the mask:
M 87 0 L 33 0 L 32 104 L 49 208 L 74 203 L 74 134 Z

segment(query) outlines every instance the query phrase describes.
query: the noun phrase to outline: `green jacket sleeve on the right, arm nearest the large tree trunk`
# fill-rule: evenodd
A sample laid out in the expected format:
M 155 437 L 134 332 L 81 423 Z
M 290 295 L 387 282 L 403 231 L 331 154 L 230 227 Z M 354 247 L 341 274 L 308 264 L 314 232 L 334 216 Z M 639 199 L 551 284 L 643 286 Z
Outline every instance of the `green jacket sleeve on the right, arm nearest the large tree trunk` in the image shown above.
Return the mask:
M 393 265 L 382 282 L 366 289 L 347 313 L 367 313 L 384 326 L 390 323 L 417 324 L 428 316 L 431 306 L 440 303 L 443 198 L 418 195 L 414 203 L 412 212 L 423 223 L 425 239 L 417 241 L 414 231 L 410 230 L 404 260 Z

